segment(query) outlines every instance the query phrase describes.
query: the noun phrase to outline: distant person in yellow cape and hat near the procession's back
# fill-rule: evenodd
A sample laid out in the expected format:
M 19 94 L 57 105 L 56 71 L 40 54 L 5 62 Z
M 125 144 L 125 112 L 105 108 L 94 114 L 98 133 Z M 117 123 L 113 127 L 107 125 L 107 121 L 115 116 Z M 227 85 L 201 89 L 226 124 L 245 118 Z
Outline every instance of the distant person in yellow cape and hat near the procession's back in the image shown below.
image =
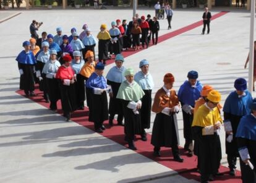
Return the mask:
M 106 64 L 106 60 L 108 59 L 108 44 L 109 44 L 109 40 L 111 39 L 111 36 L 109 35 L 107 30 L 106 24 L 102 24 L 100 26 L 100 32 L 98 33 L 97 38 L 99 40 L 99 43 L 98 43 L 99 62 L 103 62 L 103 64 Z

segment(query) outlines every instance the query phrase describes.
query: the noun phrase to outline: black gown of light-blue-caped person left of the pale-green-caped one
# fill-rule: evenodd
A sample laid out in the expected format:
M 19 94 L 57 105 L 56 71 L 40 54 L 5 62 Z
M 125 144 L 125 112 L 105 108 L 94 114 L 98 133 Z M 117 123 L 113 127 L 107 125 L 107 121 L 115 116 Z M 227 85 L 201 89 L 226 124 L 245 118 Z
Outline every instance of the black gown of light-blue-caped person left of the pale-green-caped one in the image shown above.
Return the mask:
M 109 119 L 114 119 L 114 114 L 118 114 L 117 121 L 119 123 L 124 119 L 124 114 L 122 113 L 122 101 L 119 98 L 116 98 L 117 92 L 121 83 L 111 82 L 107 80 L 108 85 L 111 85 L 113 91 L 113 97 L 109 99 Z

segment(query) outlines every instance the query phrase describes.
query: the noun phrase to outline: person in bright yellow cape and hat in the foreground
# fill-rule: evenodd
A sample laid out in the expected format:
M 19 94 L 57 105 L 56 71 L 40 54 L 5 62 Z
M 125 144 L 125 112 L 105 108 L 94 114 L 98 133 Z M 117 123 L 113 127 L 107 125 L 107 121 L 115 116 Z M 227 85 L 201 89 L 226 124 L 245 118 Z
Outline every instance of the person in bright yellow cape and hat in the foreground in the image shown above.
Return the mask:
M 198 163 L 201 182 L 213 181 L 218 174 L 221 160 L 221 143 L 219 131 L 222 124 L 220 111 L 217 108 L 221 94 L 210 91 L 207 103 L 200 106 L 192 122 L 192 132 L 198 144 Z

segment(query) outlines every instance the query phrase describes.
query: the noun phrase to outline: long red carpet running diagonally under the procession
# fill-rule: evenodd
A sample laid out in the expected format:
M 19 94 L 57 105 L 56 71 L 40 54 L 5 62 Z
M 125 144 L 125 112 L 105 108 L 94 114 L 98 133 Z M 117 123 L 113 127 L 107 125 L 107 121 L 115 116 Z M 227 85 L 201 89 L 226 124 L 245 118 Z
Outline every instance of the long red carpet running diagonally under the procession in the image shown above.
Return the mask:
M 212 20 L 220 17 L 221 15 L 226 14 L 227 12 L 220 12 L 218 14 L 213 15 Z M 179 30 L 176 30 L 174 32 L 170 32 L 166 35 L 160 36 L 159 43 L 161 43 L 164 40 L 167 40 L 169 38 L 172 38 L 174 36 L 177 36 L 181 33 L 187 32 L 189 30 L 192 30 L 193 28 L 196 28 L 198 26 L 202 25 L 202 21 L 195 22 L 187 27 L 180 28 Z M 142 50 L 139 50 L 142 51 Z M 138 53 L 139 51 L 125 51 L 123 52 L 124 57 L 130 56 L 132 54 Z M 110 64 L 114 62 L 113 60 L 108 61 L 107 64 Z M 17 91 L 20 95 L 23 95 L 23 91 Z M 30 98 L 31 100 L 35 101 L 36 103 L 41 104 L 42 106 L 45 106 L 46 108 L 49 108 L 49 104 L 45 103 L 43 100 L 43 93 L 38 90 L 38 86 L 35 90 L 36 97 Z M 24 96 L 24 95 L 23 95 Z M 58 108 L 61 109 L 61 103 L 58 102 Z M 61 114 L 61 110 L 58 111 L 59 114 Z M 77 122 L 81 126 L 87 127 L 88 129 L 93 130 L 93 123 L 88 122 L 88 109 L 85 109 L 83 111 L 75 111 L 72 114 L 72 121 Z M 124 141 L 124 129 L 121 126 L 113 126 L 109 129 L 108 125 L 106 124 L 107 129 L 102 134 L 104 137 L 109 138 L 113 140 L 116 143 L 119 143 L 121 145 L 127 146 L 126 142 Z M 137 136 L 137 140 L 135 142 L 136 147 L 138 150 L 137 153 L 140 153 L 143 156 L 146 156 L 147 158 L 150 158 L 151 160 L 154 160 L 163 166 L 166 166 L 170 169 L 173 169 L 174 171 L 179 172 L 179 175 L 186 177 L 187 179 L 194 179 L 196 181 L 200 181 L 200 174 L 195 171 L 197 166 L 197 159 L 196 156 L 193 156 L 192 158 L 187 157 L 184 152 L 181 149 L 181 155 L 182 158 L 184 158 L 184 163 L 177 163 L 176 161 L 173 161 L 173 156 L 171 155 L 171 149 L 170 148 L 162 148 L 161 149 L 161 157 L 155 158 L 153 156 L 153 146 L 150 144 L 151 135 L 147 135 L 148 141 L 142 142 L 140 140 L 140 137 Z M 229 169 L 221 166 L 220 172 L 224 173 L 224 176 L 216 177 L 216 181 L 213 182 L 225 182 L 225 183 L 234 183 L 234 182 L 242 182 L 241 181 L 241 172 L 237 171 L 236 177 L 231 177 L 228 175 Z

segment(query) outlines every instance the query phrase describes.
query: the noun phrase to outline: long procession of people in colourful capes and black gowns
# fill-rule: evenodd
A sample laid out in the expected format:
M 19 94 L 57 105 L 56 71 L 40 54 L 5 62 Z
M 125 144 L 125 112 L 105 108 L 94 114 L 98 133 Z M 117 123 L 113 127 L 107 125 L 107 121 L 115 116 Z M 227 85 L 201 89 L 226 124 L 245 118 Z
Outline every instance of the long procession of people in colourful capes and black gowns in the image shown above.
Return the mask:
M 168 16 L 171 13 L 168 11 Z M 224 126 L 229 174 L 236 175 L 239 157 L 243 182 L 256 182 L 256 100 L 247 90 L 245 79 L 234 81 L 235 90 L 222 107 L 220 92 L 210 85 L 203 85 L 195 70 L 187 73 L 187 80 L 177 92 L 173 88 L 176 77 L 170 72 L 164 74 L 163 87 L 153 97 L 152 90 L 159 81 L 150 74 L 150 60 L 140 61 L 137 73 L 132 68 L 126 69 L 122 51 L 137 50 L 140 45 L 148 48 L 150 40 L 153 45 L 157 44 L 160 25 L 157 17 L 153 20 L 150 17 L 148 15 L 147 20 L 145 16 L 133 17 L 129 25 L 126 25 L 126 20 L 122 21 L 122 25 L 121 20 L 116 20 L 111 22 L 109 30 L 106 24 L 102 24 L 96 36 L 98 40 L 85 24 L 80 35 L 75 28 L 71 29 L 70 36 L 62 35 L 62 28 L 58 27 L 56 36 L 48 34 L 38 38 L 41 45 L 36 46 L 34 38 L 24 41 L 24 49 L 16 58 L 20 89 L 26 96 L 33 97 L 35 82 L 38 83 L 51 110 L 56 111 L 57 101 L 61 100 L 66 121 L 72 118 L 74 111 L 87 106 L 88 121 L 94 123 L 98 133 L 106 130 L 105 121 L 112 127 L 117 115 L 117 125 L 124 126 L 124 140 L 131 150 L 137 150 L 135 135 L 140 135 L 142 141 L 148 140 L 146 129 L 150 129 L 152 111 L 156 113 L 151 135 L 153 155 L 161 156 L 161 147 L 168 147 L 172 150 L 174 161 L 179 163 L 184 159 L 179 152 L 177 113 L 182 113 L 186 142 L 184 151 L 188 157 L 198 156 L 201 182 L 222 176 L 218 169 L 222 158 L 220 130 Z M 209 22 L 205 22 L 207 19 Z M 203 21 L 204 33 L 205 26 L 210 23 L 208 9 Z M 171 28 L 170 23 L 168 26 L 168 29 Z M 95 59 L 97 44 L 98 61 Z M 113 58 L 115 66 L 105 74 L 106 61 Z

